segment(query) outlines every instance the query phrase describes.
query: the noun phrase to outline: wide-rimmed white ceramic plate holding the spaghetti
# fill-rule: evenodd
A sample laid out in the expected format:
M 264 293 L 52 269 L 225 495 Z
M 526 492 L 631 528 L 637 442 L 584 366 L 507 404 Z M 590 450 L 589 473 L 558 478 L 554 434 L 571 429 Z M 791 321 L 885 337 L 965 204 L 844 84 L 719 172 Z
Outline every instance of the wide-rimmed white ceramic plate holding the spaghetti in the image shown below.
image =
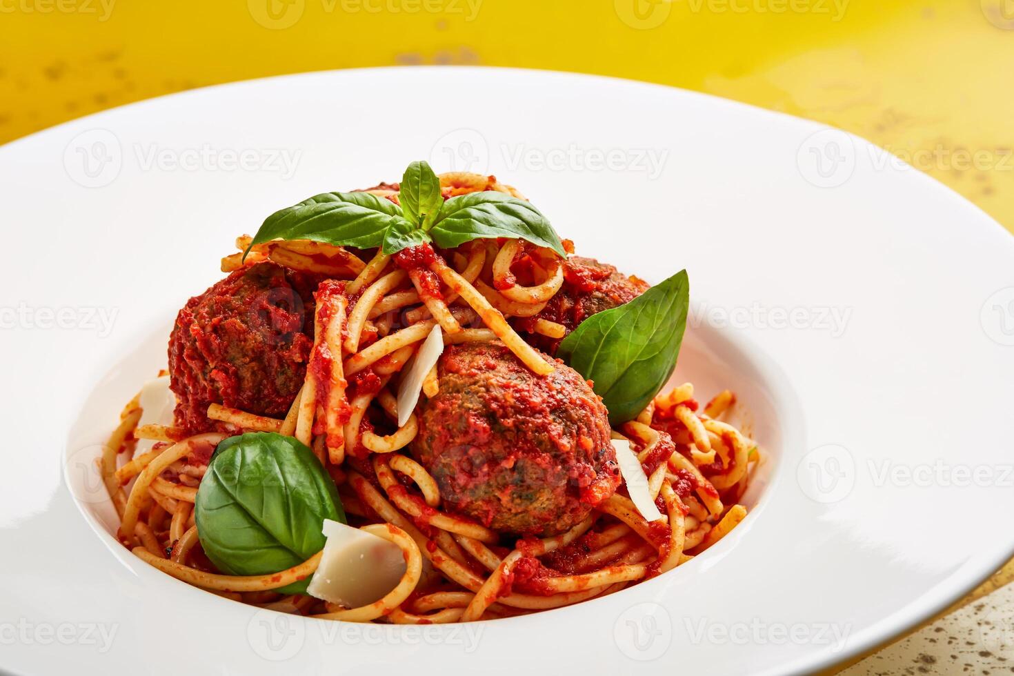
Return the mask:
M 408 628 L 255 612 L 116 544 L 87 468 L 176 309 L 267 214 L 418 158 L 496 173 L 628 273 L 689 270 L 680 376 L 740 392 L 771 453 L 730 537 L 579 606 Z M 603 78 L 345 71 L 37 134 L 0 192 L 5 670 L 807 672 L 1014 553 L 1014 240 L 858 138 Z

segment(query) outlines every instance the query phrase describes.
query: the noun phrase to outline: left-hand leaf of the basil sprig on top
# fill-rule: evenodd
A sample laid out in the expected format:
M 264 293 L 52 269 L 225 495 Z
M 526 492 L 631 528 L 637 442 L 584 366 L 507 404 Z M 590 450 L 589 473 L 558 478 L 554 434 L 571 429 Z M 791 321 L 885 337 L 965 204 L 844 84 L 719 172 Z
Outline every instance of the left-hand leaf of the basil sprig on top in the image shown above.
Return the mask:
M 282 238 L 374 248 L 401 217 L 401 207 L 369 193 L 323 193 L 269 216 L 250 246 Z

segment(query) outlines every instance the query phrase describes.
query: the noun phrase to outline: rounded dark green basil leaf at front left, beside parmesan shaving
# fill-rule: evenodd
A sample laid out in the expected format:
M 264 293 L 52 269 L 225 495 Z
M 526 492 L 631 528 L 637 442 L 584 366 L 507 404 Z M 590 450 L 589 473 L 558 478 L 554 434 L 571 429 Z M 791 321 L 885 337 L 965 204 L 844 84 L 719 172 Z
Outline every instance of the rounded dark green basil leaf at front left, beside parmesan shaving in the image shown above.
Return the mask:
M 201 546 L 229 575 L 268 575 L 323 548 L 324 519 L 346 523 L 335 481 L 292 437 L 251 433 L 218 445 L 194 506 Z M 308 580 L 279 589 L 305 593 Z

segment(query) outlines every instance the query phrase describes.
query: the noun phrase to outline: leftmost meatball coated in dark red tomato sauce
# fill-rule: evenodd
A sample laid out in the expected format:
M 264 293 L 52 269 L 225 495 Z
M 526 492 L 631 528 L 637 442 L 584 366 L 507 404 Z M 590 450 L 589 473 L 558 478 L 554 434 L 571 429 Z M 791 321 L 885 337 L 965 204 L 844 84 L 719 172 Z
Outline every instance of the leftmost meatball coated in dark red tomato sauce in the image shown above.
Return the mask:
M 176 426 L 217 427 L 208 404 L 284 416 L 313 345 L 317 280 L 274 262 L 233 272 L 179 310 L 169 336 Z

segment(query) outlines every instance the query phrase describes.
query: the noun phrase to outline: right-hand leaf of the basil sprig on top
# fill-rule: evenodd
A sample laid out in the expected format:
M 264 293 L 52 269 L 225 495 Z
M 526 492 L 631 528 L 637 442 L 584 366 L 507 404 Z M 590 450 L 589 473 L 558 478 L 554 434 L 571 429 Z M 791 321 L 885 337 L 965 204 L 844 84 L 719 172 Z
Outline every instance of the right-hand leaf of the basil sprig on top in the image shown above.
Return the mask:
M 441 248 L 453 248 L 473 239 L 520 237 L 567 257 L 560 236 L 537 209 L 524 200 L 494 191 L 459 195 L 444 202 L 430 234 Z

